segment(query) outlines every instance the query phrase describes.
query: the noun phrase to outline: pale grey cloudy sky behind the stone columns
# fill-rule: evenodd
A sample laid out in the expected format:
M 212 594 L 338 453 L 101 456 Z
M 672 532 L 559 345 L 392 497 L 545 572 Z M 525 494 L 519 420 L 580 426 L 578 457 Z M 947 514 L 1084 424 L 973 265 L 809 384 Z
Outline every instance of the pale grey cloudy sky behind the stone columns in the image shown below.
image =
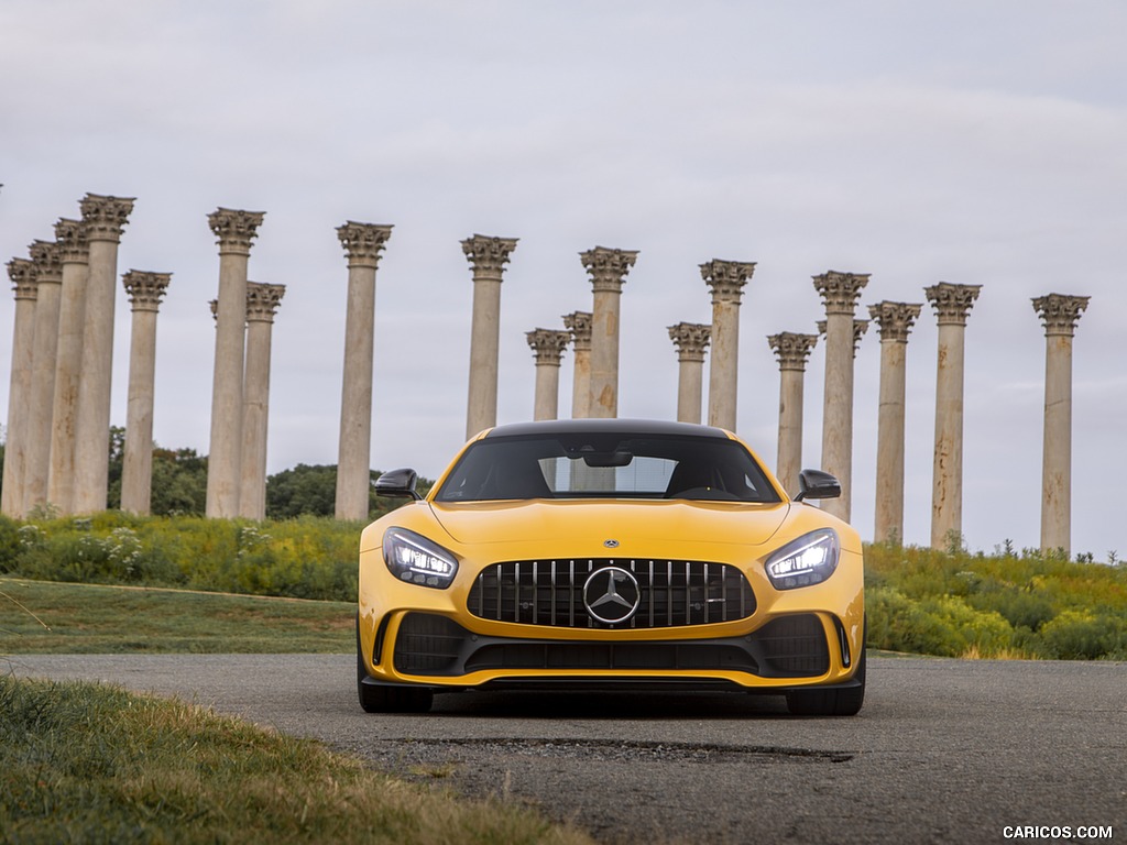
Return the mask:
M 815 331 L 810 282 L 864 306 L 980 284 L 966 336 L 964 533 L 1039 542 L 1045 338 L 1030 300 L 1091 295 L 1074 357 L 1073 550 L 1127 557 L 1127 6 L 1120 0 L 5 0 L 0 256 L 87 192 L 135 196 L 119 272 L 172 273 L 156 438 L 208 450 L 219 257 L 206 215 L 265 211 L 250 278 L 274 327 L 269 471 L 335 463 L 347 269 L 335 228 L 394 225 L 378 276 L 373 465 L 461 445 L 472 284 L 459 241 L 518 238 L 499 420 L 531 417 L 524 332 L 589 310 L 578 254 L 636 249 L 620 413 L 673 418 L 666 327 L 708 322 L 698 265 L 756 261 L 738 433 L 773 465 L 766 336 Z M 0 397 L 14 301 L 0 301 Z M 859 313 L 859 315 L 864 315 Z M 125 422 L 118 292 L 113 421 Z M 906 525 L 930 535 L 935 319 L 908 344 Z M 879 340 L 857 357 L 853 521 L 872 534 Z M 570 355 L 561 413 L 570 412 Z M 824 358 L 806 376 L 820 459 Z

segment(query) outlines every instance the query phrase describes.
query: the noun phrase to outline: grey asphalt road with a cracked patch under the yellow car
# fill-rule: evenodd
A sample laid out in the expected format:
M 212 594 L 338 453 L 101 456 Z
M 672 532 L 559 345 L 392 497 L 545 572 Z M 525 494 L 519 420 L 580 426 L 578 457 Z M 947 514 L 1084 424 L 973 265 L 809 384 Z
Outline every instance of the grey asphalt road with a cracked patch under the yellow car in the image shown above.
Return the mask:
M 649 693 L 464 693 L 428 715 L 369 715 L 354 656 L 0 660 L 318 737 L 405 776 L 533 803 L 606 843 L 1053 840 L 1008 836 L 1014 826 L 1127 839 L 1121 662 L 877 658 L 859 717 L 797 719 L 775 699 Z

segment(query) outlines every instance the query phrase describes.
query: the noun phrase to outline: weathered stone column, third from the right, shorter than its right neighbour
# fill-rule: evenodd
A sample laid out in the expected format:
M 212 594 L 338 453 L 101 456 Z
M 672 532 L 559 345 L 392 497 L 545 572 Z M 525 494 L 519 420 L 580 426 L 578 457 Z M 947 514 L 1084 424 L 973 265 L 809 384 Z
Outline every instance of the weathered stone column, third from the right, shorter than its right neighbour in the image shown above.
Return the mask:
M 880 330 L 880 408 L 877 416 L 877 507 L 872 537 L 904 541 L 904 391 L 908 332 L 923 305 L 880 302 L 869 314 Z

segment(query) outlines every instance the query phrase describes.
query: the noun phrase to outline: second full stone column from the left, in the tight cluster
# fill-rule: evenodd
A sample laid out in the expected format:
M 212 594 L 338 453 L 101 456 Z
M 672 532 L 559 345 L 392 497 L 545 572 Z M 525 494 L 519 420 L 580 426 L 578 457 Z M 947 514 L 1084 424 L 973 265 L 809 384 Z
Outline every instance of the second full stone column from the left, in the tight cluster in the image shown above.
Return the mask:
M 29 248 L 38 291 L 35 300 L 35 339 L 32 353 L 32 394 L 27 408 L 27 451 L 24 463 L 24 514 L 47 504 L 51 471 L 51 415 L 55 395 L 55 350 L 63 268 L 57 244 L 35 241 Z

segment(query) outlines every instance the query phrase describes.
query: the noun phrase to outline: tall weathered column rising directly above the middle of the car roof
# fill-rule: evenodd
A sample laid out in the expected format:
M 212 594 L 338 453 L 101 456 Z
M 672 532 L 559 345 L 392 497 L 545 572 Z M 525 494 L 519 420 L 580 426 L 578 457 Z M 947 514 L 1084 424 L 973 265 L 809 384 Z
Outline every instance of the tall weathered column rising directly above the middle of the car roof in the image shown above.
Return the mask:
M 622 285 L 638 260 L 638 250 L 595 247 L 579 254 L 591 274 L 591 390 L 587 416 L 619 416 L 619 312 Z

